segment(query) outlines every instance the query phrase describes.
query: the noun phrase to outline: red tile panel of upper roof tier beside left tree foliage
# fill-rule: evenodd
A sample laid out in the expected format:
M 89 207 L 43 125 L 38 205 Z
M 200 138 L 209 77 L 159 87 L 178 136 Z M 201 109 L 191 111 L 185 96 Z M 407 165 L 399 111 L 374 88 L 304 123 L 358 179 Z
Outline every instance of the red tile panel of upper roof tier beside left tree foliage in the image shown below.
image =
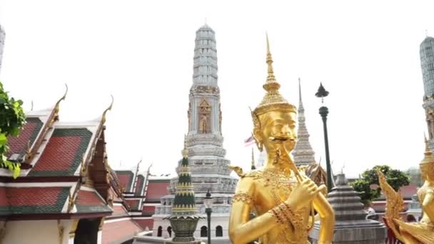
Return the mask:
M 8 143 L 11 150 L 7 156 L 11 156 L 14 153 L 23 156 L 26 153 L 28 143 L 31 146 L 36 140 L 39 131 L 41 131 L 43 123 L 39 118 L 27 118 L 26 121 L 27 123 L 21 129 L 19 136 L 9 136 Z

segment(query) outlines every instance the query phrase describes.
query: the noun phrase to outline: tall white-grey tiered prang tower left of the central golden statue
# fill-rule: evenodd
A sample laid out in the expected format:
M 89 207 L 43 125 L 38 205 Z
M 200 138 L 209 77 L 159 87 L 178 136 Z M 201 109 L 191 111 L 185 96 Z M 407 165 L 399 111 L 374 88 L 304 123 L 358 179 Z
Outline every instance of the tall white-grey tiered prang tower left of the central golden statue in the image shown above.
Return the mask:
M 196 195 L 198 213 L 206 217 L 203 198 L 207 191 L 213 197 L 211 218 L 211 238 L 218 238 L 219 243 L 228 240 L 228 223 L 231 212 L 231 198 L 235 193 L 237 178 L 230 176 L 229 161 L 225 158 L 221 133 L 220 89 L 217 76 L 217 49 L 215 32 L 207 24 L 196 31 L 193 58 L 193 84 L 190 89 L 188 104 L 188 161 L 191 169 L 191 181 Z M 180 148 L 181 149 L 181 148 Z M 179 173 L 181 161 L 176 171 Z M 170 195 L 161 198 L 161 205 L 153 215 L 153 235 L 157 235 L 161 226 L 164 234 L 168 228 L 171 205 L 178 178 L 171 180 Z M 196 237 L 206 238 L 206 218 L 199 220 Z M 205 236 L 203 236 L 205 234 Z

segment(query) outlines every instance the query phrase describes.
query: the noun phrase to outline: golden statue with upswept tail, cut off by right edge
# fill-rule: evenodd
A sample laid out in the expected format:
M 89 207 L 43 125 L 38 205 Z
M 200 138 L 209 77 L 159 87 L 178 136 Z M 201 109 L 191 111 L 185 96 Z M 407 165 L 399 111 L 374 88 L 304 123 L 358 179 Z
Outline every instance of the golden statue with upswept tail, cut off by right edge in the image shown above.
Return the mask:
M 418 190 L 418 198 L 422 205 L 423 216 L 419 223 L 405 223 L 400 216 L 404 201 L 400 193 L 387 183 L 381 171 L 377 171 L 380 188 L 387 199 L 385 219 L 396 238 L 405 244 L 434 243 L 434 156 L 425 138 L 425 157 L 419 164 L 422 173 L 422 187 Z

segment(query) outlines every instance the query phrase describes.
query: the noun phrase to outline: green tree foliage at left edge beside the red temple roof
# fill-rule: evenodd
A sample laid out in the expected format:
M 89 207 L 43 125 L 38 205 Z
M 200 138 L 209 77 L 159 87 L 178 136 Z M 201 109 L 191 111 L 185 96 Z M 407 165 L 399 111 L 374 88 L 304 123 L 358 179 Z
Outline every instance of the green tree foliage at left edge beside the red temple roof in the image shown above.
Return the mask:
M 0 82 L 0 168 L 8 168 L 14 172 L 14 178 L 19 176 L 20 164 L 7 161 L 6 152 L 9 151 L 8 136 L 18 136 L 26 123 L 26 115 L 21 105 L 21 100 L 9 98 Z

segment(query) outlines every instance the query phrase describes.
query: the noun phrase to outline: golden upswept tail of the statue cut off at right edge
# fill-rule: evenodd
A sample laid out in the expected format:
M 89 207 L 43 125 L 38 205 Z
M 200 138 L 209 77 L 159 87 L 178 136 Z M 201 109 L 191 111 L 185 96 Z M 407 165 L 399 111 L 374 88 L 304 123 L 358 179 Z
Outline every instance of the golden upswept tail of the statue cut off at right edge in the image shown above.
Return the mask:
M 380 188 L 386 198 L 385 203 L 385 219 L 388 222 L 390 229 L 395 234 L 396 238 L 403 241 L 403 238 L 399 232 L 399 225 L 394 220 L 403 220 L 400 216 L 401 210 L 404 209 L 403 196 L 400 193 L 395 192 L 393 188 L 388 184 L 384 174 L 377 169 L 378 181 L 380 182 Z

